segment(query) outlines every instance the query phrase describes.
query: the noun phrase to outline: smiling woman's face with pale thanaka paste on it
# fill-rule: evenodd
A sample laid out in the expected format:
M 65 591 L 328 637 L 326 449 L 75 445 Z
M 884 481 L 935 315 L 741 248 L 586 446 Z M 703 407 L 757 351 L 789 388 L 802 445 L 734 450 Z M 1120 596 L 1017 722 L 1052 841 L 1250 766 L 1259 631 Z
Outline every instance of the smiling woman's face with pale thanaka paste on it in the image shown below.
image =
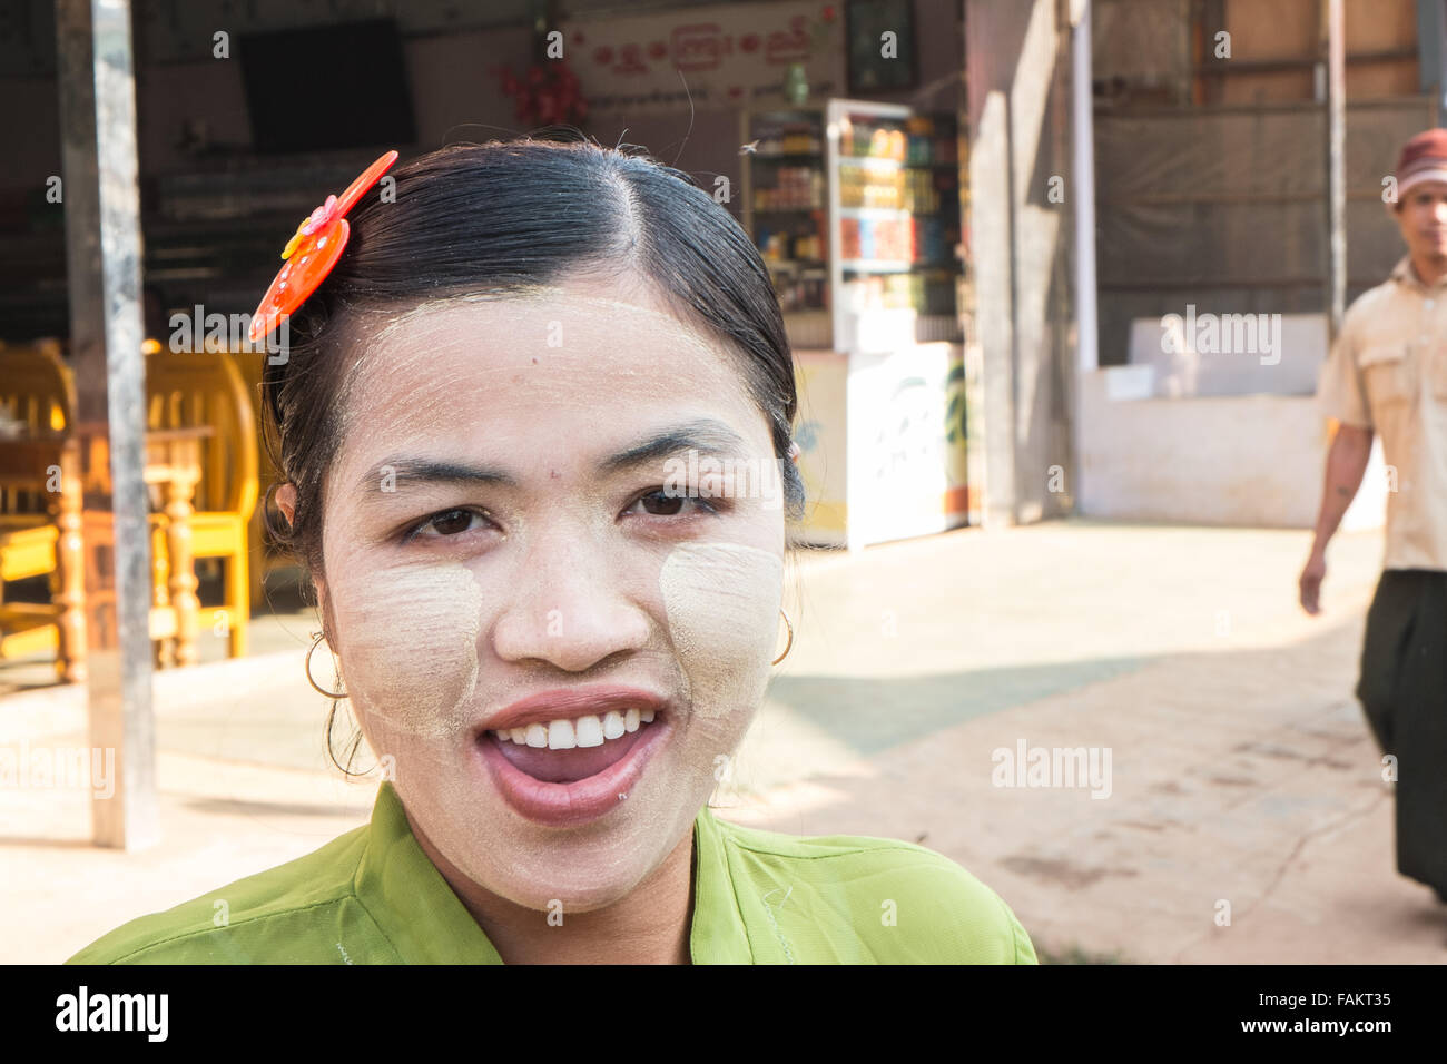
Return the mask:
M 768 423 L 738 358 L 635 287 L 453 300 L 355 350 L 317 589 L 362 730 L 456 870 L 606 906 L 690 831 L 763 698 Z

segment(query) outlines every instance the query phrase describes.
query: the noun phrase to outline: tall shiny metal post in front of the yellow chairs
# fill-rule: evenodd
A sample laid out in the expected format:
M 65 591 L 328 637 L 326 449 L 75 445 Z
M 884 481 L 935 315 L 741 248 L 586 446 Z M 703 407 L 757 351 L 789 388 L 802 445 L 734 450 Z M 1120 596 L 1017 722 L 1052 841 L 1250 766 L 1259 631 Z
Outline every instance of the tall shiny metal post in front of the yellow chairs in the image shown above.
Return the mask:
M 140 197 L 129 0 L 56 0 L 65 258 L 81 437 L 91 747 L 117 779 L 94 792 L 97 844 L 159 840 L 150 714 L 150 559 L 140 353 Z

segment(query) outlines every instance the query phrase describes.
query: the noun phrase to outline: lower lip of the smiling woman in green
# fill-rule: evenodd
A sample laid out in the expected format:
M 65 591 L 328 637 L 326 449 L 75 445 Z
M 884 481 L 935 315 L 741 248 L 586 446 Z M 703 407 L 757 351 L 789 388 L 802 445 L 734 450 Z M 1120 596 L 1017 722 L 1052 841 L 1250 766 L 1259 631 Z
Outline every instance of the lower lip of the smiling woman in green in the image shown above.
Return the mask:
M 488 766 L 502 799 L 518 814 L 550 828 L 592 824 L 627 802 L 654 750 L 670 731 L 667 717 L 647 725 L 644 735 L 618 761 L 602 772 L 572 783 L 547 783 L 528 776 L 498 750 L 498 740 L 483 734 L 478 741 L 482 761 Z M 625 798 L 619 798 L 625 795 Z

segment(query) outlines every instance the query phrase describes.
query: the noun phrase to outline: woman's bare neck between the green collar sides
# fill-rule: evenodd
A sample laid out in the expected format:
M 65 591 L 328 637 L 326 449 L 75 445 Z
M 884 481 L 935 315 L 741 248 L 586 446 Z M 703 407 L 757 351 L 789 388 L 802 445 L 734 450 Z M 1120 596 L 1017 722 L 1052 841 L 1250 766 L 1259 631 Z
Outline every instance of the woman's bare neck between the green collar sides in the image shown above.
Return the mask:
M 411 818 L 408 818 L 411 819 Z M 624 899 L 592 912 L 525 909 L 485 890 L 412 825 L 423 853 L 478 921 L 504 964 L 689 964 L 693 924 L 693 825 Z

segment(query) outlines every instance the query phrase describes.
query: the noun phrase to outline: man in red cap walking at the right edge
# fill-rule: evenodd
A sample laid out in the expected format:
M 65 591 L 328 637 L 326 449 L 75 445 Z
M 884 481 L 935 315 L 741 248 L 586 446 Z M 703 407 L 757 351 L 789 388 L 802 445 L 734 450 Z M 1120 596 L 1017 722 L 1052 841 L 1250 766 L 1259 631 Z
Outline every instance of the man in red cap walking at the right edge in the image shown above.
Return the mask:
M 1347 310 L 1317 392 L 1340 427 L 1301 605 L 1320 609 L 1327 541 L 1380 433 L 1386 554 L 1356 693 L 1396 759 L 1396 869 L 1447 902 L 1447 130 L 1408 140 L 1395 180 L 1406 255 Z

